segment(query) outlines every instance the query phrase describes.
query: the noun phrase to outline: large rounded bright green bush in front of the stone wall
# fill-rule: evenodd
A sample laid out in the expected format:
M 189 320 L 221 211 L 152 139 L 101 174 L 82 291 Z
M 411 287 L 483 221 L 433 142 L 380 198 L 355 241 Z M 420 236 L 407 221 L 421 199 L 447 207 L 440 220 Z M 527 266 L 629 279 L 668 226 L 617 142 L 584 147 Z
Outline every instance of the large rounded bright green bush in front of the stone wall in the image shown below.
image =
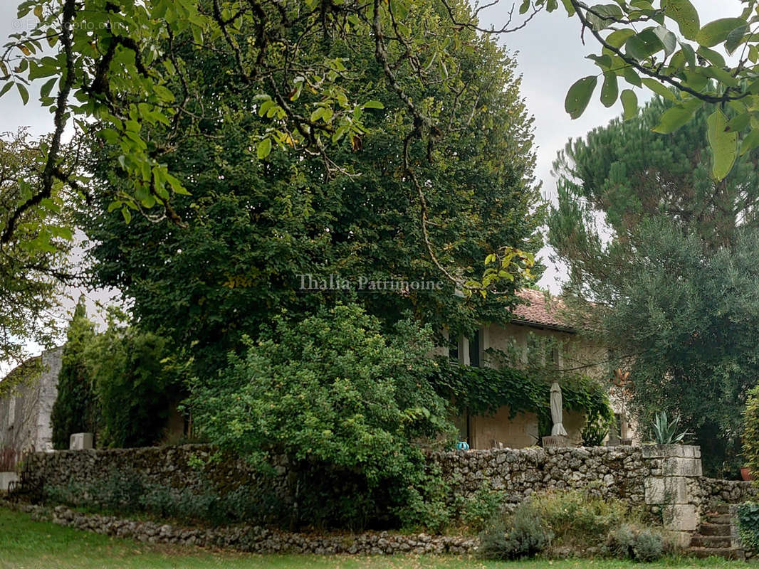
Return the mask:
M 293 525 L 383 525 L 395 517 L 441 527 L 446 493 L 417 444 L 442 443 L 440 435 L 453 432 L 446 401 L 427 382 L 436 366 L 430 338 L 411 320 L 385 334 L 356 306 L 278 317 L 247 340 L 243 356 L 231 354 L 222 373 L 194 382 L 194 424 L 262 469 L 287 457 L 294 501 L 317 497 L 295 512 Z M 331 473 L 348 473 L 347 483 L 325 485 Z

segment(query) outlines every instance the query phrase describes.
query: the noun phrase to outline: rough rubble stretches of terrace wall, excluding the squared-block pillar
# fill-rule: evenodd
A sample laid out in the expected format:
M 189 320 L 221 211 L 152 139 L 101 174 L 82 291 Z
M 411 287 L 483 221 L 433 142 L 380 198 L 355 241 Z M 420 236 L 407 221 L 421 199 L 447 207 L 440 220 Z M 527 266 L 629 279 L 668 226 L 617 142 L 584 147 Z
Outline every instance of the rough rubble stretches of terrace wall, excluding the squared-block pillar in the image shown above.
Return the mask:
M 34 486 L 84 486 L 112 473 L 134 473 L 146 482 L 182 489 L 203 489 L 209 483 L 222 492 L 260 483 L 243 461 L 209 460 L 207 445 L 57 451 L 34 454 L 27 465 Z M 452 495 L 469 497 L 483 487 L 502 492 L 517 504 L 534 492 L 592 487 L 604 496 L 644 503 L 644 481 L 660 465 L 646 460 L 639 447 L 524 448 L 455 451 L 430 454 L 452 486 Z M 287 467 L 267 485 L 285 489 Z M 269 491 L 272 487 L 269 486 Z

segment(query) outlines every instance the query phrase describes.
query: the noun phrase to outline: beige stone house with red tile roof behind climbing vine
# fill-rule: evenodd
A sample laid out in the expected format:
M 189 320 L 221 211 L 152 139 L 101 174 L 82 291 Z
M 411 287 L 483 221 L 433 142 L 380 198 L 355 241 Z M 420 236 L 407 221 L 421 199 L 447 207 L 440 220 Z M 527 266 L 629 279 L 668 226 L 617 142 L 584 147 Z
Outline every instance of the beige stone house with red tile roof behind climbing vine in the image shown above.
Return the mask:
M 465 366 L 496 366 L 489 350 L 509 352 L 516 349 L 528 350 L 528 344 L 535 339 L 545 338 L 553 346 L 550 357 L 556 369 L 582 369 L 590 376 L 601 377 L 602 363 L 606 360 L 606 349 L 591 344 L 578 331 L 562 319 L 562 302 L 541 291 L 523 289 L 519 296 L 527 301 L 512 311 L 508 324 L 483 325 L 474 338 L 460 338 L 458 350 L 449 351 L 452 357 Z M 612 385 L 609 382 L 609 385 Z M 634 426 L 625 413 L 621 401 L 613 396 L 610 401 L 615 412 L 616 435 L 621 439 L 635 436 Z M 509 407 L 501 407 L 493 416 L 467 415 L 456 417 L 461 440 L 468 441 L 471 448 L 525 448 L 537 445 L 539 441 L 538 418 L 536 413 L 518 413 L 509 418 Z M 581 430 L 585 418 L 582 413 L 565 410 L 563 424 L 572 442 L 581 441 Z

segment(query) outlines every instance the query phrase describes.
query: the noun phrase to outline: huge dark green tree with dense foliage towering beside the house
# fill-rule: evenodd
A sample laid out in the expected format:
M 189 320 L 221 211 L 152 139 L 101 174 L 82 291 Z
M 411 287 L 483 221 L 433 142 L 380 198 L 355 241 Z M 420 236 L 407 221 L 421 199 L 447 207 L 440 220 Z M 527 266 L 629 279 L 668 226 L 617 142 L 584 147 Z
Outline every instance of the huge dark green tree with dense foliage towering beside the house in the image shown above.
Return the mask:
M 429 33 L 443 36 L 451 26 L 439 17 Z M 520 278 L 503 279 L 501 294 L 465 303 L 444 272 L 456 266 L 457 278 L 474 278 L 482 259 L 503 244 L 533 253 L 540 247 L 531 119 L 505 53 L 471 31 L 459 40 L 458 93 L 442 83 L 420 86 L 413 68 L 396 70 L 404 90 L 436 108 L 446 124 L 434 146 L 411 137 L 408 109 L 383 81 L 373 42 L 334 39 L 310 46 L 361 62 L 364 74 L 346 77 L 343 86 L 348 95 L 372 102 L 361 112 L 367 132 L 335 143 L 332 158 L 342 171 L 332 176 L 323 156 L 251 159 L 251 133 L 266 124 L 272 105 L 225 73 L 223 53 L 189 50 L 184 61 L 197 78 L 198 96 L 188 110 L 200 115 L 213 106 L 219 116 L 201 121 L 197 136 L 175 141 L 162 155 L 191 190 L 173 202 L 187 227 L 139 216 L 124 225 L 121 213 L 109 207 L 129 184 L 118 170 L 121 149 L 93 145 L 90 169 L 102 198 L 83 210 L 82 223 L 96 243 L 97 281 L 120 288 L 135 300 L 142 325 L 165 330 L 178 344 L 194 344 L 198 362 L 211 367 L 273 315 L 335 300 L 361 303 L 386 322 L 413 310 L 454 336 L 477 322 L 505 319 Z M 144 130 L 159 146 L 172 136 L 172 127 Z M 423 203 L 408 184 L 407 165 L 424 184 Z M 317 281 L 339 275 L 354 288 L 360 278 L 433 281 L 442 288 L 301 291 L 310 281 L 301 275 Z

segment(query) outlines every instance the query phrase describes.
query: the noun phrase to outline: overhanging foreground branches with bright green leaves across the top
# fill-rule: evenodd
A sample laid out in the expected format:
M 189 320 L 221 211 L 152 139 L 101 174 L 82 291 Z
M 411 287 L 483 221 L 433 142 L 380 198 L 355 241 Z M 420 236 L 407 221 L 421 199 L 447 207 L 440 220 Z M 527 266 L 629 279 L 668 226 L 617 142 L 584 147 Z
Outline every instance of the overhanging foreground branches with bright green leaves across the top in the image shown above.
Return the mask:
M 329 52 L 314 55 L 313 50 L 304 49 L 331 38 L 373 42 L 372 57 L 382 70 L 381 80 L 405 108 L 403 121 L 411 129 L 408 136 L 434 146 L 445 121 L 439 120 L 436 105 L 415 99 L 398 81 L 397 69 L 408 65 L 418 83 L 438 85 L 455 95 L 461 78 L 452 55 L 460 47 L 458 31 L 479 29 L 478 11 L 492 5 L 473 11 L 459 2 L 442 0 L 442 4 L 443 14 L 430 10 L 424 0 L 22 2 L 20 17 L 33 17 L 36 24 L 14 34 L 8 43 L 0 61 L 5 74 L 2 92 L 15 86 L 27 100 L 27 85 L 44 81 L 43 104 L 53 110 L 55 130 L 49 146 L 39 153 L 39 183 L 31 195 L 8 203 L 0 244 L 11 240 L 19 216 L 38 209 L 57 184 L 75 189 L 86 184 L 77 171 L 61 168 L 61 137 L 72 118 L 88 135 L 103 137 L 121 149 L 121 168 L 131 183 L 121 188 L 114 207 L 129 217 L 130 209 L 157 206 L 174 222 L 181 222 L 172 195 L 184 188 L 162 155 L 175 140 L 197 135 L 205 117 L 188 106 L 195 93 L 182 52 L 187 46 L 222 53 L 230 62 L 225 73 L 234 74 L 269 105 L 266 115 L 271 120 L 254 131 L 251 156 L 268 156 L 273 146 L 290 147 L 317 152 L 329 170 L 339 167 L 330 157 L 331 143 L 342 136 L 355 140 L 364 133 L 360 111 L 368 101 L 349 96 L 342 84 L 348 75 L 364 77 L 361 58 L 354 61 L 352 52 L 335 58 Z M 736 17 L 701 25 L 689 0 L 607 5 L 562 0 L 565 14 L 576 19 L 584 36 L 592 36 L 601 46 L 601 53 L 594 55 L 599 73 L 572 86 L 565 101 L 567 112 L 573 117 L 584 112 L 600 77 L 602 102 L 610 106 L 621 98 L 629 115 L 636 112 L 637 96 L 632 89 L 620 93 L 619 80 L 631 88 L 646 87 L 671 97 L 676 106 L 661 118 L 662 131 L 688 121 L 704 102 L 729 104 L 738 113 L 729 128 L 720 108 L 713 110 L 709 121 L 714 150 L 711 171 L 714 178 L 724 178 L 738 153 L 738 131 L 750 134 L 745 137 L 745 149 L 759 144 L 754 118 L 759 39 L 752 33 L 759 15 L 756 0 L 742 4 L 744 10 Z M 558 11 L 558 0 L 524 0 L 519 9 L 523 21 L 509 16 L 500 29 L 485 31 L 516 31 L 543 9 Z M 456 24 L 453 33 L 428 33 L 440 17 Z M 241 37 L 250 40 L 242 42 Z M 44 42 L 55 55 L 46 55 Z M 727 64 L 724 52 L 736 54 L 735 61 Z M 674 92 L 665 86 L 674 87 Z M 179 128 L 187 119 L 191 119 L 189 125 Z M 172 137 L 162 144 L 150 140 L 143 130 L 144 124 L 156 123 L 172 125 Z M 405 174 L 406 183 L 420 194 L 417 206 L 424 207 L 424 179 L 415 175 L 408 162 Z M 473 288 L 484 284 L 476 282 Z

